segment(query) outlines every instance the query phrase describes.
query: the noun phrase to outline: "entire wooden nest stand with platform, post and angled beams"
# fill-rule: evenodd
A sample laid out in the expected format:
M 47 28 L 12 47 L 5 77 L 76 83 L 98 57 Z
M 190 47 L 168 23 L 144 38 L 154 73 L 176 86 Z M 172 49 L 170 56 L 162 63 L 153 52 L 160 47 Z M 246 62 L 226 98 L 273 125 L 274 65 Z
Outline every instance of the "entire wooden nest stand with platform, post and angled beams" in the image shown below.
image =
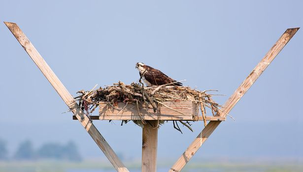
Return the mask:
M 74 119 L 78 119 L 80 124 L 85 128 L 88 134 L 100 147 L 101 151 L 113 165 L 117 172 L 129 172 L 126 166 L 121 162 L 117 154 L 113 151 L 110 145 L 103 138 L 101 133 L 98 131 L 96 126 L 91 122 L 87 115 L 81 111 L 81 107 L 77 104 L 72 95 L 67 91 L 66 87 L 61 83 L 55 73 L 51 70 L 45 60 L 34 48 L 34 45 L 30 42 L 27 36 L 22 32 L 17 24 L 11 22 L 4 22 L 5 25 L 10 29 L 16 39 L 19 41 L 24 50 L 33 59 L 35 64 L 48 79 L 50 84 L 56 89 L 58 94 L 67 104 L 70 111 L 75 115 Z M 270 62 L 278 55 L 278 53 L 283 49 L 283 47 L 288 43 L 288 41 L 294 36 L 299 28 L 287 29 L 282 36 L 277 40 L 269 52 L 263 57 L 263 59 L 257 64 L 249 76 L 242 82 L 242 84 L 236 89 L 234 94 L 227 100 L 223 105 L 220 113 L 220 117 L 208 116 L 205 117 L 206 120 L 212 120 L 207 123 L 205 128 L 200 132 L 200 134 L 194 139 L 194 141 L 188 146 L 184 153 L 179 157 L 175 164 L 169 169 L 169 172 L 180 172 L 184 166 L 191 160 L 191 158 L 196 154 L 202 144 L 208 139 L 212 132 L 221 123 L 221 120 L 225 120 L 226 115 L 233 109 L 236 103 L 241 99 L 241 97 L 246 93 L 246 91 L 254 84 L 254 82 L 259 78 L 263 71 L 269 66 Z M 202 116 L 198 114 L 197 107 L 189 102 L 165 102 L 165 106 L 158 106 L 159 113 L 147 113 L 139 107 L 136 112 L 134 106 L 127 104 L 116 105 L 118 108 L 113 108 L 107 103 L 100 105 L 99 116 L 92 116 L 92 119 L 118 119 L 118 120 L 134 120 L 138 119 L 138 115 L 142 114 L 145 120 L 150 123 L 157 122 L 155 119 L 162 120 L 202 120 Z M 126 106 L 127 105 L 127 106 Z M 169 111 L 169 107 L 179 107 L 178 111 Z M 166 109 L 167 108 L 167 109 Z M 169 110 L 168 110 L 169 109 Z M 183 113 L 183 111 L 185 113 Z M 153 112 L 151 110 L 151 112 Z M 180 113 L 182 112 L 182 113 Z M 180 115 L 181 114 L 181 115 Z M 180 119 L 181 118 L 181 119 Z M 205 122 L 205 121 L 204 121 Z M 157 140 L 158 140 L 158 128 L 146 124 L 142 127 L 142 172 L 156 172 L 157 170 Z

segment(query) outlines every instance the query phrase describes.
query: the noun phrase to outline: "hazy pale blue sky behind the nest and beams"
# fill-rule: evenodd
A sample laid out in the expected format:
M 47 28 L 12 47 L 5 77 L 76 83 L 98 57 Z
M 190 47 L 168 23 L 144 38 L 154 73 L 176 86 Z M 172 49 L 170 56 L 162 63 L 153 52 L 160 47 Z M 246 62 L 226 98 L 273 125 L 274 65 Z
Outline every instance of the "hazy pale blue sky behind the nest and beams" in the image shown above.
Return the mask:
M 26 33 L 72 95 L 130 84 L 136 62 L 228 99 L 287 28 L 303 27 L 300 0 L 1 0 L 0 21 Z M 300 29 L 194 156 L 303 158 L 303 34 Z M 30 139 L 75 141 L 104 157 L 4 24 L 0 24 L 0 138 L 10 151 Z M 141 128 L 94 121 L 119 154 L 141 156 Z M 177 159 L 202 129 L 159 130 L 159 158 Z

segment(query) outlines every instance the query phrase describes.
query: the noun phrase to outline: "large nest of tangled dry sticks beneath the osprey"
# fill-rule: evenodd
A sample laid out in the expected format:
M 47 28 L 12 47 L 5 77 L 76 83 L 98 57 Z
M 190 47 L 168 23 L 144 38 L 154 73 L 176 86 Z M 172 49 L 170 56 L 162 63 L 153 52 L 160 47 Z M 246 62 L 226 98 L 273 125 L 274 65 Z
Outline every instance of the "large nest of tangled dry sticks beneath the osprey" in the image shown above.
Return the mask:
M 173 83 L 172 83 L 173 84 Z M 95 87 L 94 87 L 95 88 Z M 105 88 L 94 88 L 90 91 L 80 90 L 77 93 L 80 95 L 75 97 L 78 101 L 79 106 L 85 112 L 86 115 L 90 117 L 90 114 L 95 111 L 100 102 L 107 102 L 112 108 L 115 108 L 115 104 L 118 102 L 134 103 L 137 106 L 140 105 L 147 110 L 148 106 L 152 106 L 154 112 L 157 111 L 157 104 L 166 106 L 162 102 L 164 101 L 192 101 L 200 105 L 202 115 L 206 114 L 206 109 L 210 109 L 212 115 L 216 115 L 220 105 L 212 100 L 212 95 L 208 94 L 208 91 L 216 90 L 205 90 L 199 91 L 197 89 L 192 89 L 189 86 L 149 86 L 144 87 L 142 83 L 132 83 L 131 85 L 125 85 L 122 82 L 113 84 L 113 86 L 106 86 Z M 174 110 L 168 106 L 167 108 Z M 116 109 L 118 110 L 118 109 Z M 120 111 L 120 110 L 119 110 Z M 174 110 L 178 112 L 177 110 Z M 204 117 L 205 119 L 205 117 Z M 142 124 L 148 123 L 148 120 L 140 121 L 133 120 L 136 124 L 142 126 Z M 128 121 L 122 121 L 127 123 Z M 159 127 L 164 121 L 158 121 Z M 191 124 L 188 121 L 178 121 L 188 127 L 191 131 Z M 206 121 L 204 120 L 204 124 Z M 181 132 L 177 121 L 173 121 L 174 128 Z M 182 133 L 182 132 L 181 132 Z

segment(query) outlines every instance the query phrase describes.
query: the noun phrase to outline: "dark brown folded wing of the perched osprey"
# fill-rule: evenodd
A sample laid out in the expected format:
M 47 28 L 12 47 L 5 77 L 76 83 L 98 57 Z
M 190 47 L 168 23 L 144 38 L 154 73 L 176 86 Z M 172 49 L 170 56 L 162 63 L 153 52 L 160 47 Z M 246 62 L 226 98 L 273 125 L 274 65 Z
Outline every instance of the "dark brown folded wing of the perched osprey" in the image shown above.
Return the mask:
M 150 66 L 145 65 L 144 68 L 146 71 L 144 72 L 144 78 L 152 85 L 160 86 L 164 84 L 169 84 L 176 82 L 175 80 L 169 78 L 163 72 L 158 69 L 154 69 Z M 176 86 L 182 86 L 182 83 L 175 83 Z

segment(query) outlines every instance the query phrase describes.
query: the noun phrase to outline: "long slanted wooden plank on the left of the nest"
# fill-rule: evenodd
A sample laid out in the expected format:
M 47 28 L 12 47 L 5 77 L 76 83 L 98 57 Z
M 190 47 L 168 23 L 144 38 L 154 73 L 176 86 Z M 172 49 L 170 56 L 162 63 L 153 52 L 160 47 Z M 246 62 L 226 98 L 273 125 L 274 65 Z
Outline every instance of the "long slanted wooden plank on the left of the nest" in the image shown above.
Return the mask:
M 90 134 L 93 140 L 98 144 L 98 146 L 103 151 L 108 160 L 111 162 L 111 164 L 114 166 L 114 168 L 118 172 L 129 172 L 127 168 L 123 165 L 123 163 L 119 160 L 118 156 L 109 146 L 109 144 L 105 141 L 100 132 L 97 130 L 95 125 L 90 122 L 89 118 L 84 115 L 84 113 L 80 110 L 73 97 L 67 91 L 66 87 L 61 83 L 61 81 L 51 70 L 48 64 L 44 61 L 41 55 L 37 52 L 37 50 L 34 48 L 34 45 L 30 42 L 30 40 L 22 32 L 18 25 L 10 22 L 4 22 L 4 24 L 13 33 L 13 35 L 19 41 L 21 46 L 24 48 L 24 50 L 33 59 L 34 63 L 38 66 L 43 75 L 47 78 L 50 84 L 55 88 L 55 90 L 67 104 L 70 111 L 77 117 L 82 126 Z

